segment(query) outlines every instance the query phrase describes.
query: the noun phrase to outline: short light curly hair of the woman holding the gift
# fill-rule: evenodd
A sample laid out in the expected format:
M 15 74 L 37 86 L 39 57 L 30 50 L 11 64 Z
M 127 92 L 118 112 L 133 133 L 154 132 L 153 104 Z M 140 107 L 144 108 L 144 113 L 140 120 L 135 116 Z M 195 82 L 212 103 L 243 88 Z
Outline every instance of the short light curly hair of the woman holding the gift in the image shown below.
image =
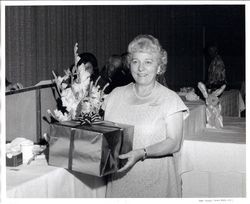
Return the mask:
M 132 54 L 135 52 L 149 52 L 156 53 L 159 56 L 160 71 L 158 74 L 163 74 L 167 69 L 167 52 L 164 50 L 158 39 L 152 35 L 138 35 L 128 45 L 127 61 L 130 64 L 132 60 Z

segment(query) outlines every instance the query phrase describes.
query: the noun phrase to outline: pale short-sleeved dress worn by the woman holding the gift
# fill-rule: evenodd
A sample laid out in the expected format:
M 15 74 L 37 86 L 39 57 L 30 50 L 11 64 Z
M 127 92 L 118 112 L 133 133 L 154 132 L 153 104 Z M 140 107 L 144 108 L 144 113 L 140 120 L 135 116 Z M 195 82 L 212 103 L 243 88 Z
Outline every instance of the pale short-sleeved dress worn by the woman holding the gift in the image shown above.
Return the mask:
M 134 126 L 133 149 L 147 147 L 166 138 L 166 118 L 187 111 L 180 97 L 156 83 L 152 93 L 139 97 L 134 83 L 118 87 L 105 101 L 105 120 Z M 107 197 L 179 197 L 173 156 L 138 161 L 129 171 L 112 176 Z

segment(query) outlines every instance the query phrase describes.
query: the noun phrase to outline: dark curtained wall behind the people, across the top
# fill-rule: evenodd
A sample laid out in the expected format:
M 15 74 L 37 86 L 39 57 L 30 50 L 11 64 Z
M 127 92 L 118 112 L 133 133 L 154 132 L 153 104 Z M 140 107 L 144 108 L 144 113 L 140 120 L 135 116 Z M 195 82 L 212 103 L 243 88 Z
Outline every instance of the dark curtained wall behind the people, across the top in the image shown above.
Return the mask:
M 169 86 L 205 80 L 204 48 L 216 41 L 231 87 L 245 78 L 245 7 L 225 6 L 8 6 L 6 77 L 31 86 L 63 74 L 73 63 L 73 46 L 92 52 L 101 68 L 111 54 L 126 51 L 138 34 L 158 38 L 169 56 Z

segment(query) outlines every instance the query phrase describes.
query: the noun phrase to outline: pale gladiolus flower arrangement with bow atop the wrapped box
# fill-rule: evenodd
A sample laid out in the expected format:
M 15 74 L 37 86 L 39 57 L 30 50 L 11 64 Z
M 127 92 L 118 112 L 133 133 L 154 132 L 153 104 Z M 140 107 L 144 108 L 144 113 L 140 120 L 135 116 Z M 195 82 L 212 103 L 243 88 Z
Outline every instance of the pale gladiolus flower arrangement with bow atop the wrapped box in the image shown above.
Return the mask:
M 62 106 L 66 110 L 56 109 L 53 113 L 48 110 L 48 113 L 57 121 L 79 120 L 81 124 L 91 124 L 101 120 L 99 112 L 105 98 L 104 90 L 108 84 L 101 90 L 97 86 L 100 77 L 93 84 L 85 65 L 82 63 L 78 66 L 80 60 L 78 43 L 74 46 L 74 57 L 72 70 L 64 70 L 63 77 L 56 76 L 52 71 Z

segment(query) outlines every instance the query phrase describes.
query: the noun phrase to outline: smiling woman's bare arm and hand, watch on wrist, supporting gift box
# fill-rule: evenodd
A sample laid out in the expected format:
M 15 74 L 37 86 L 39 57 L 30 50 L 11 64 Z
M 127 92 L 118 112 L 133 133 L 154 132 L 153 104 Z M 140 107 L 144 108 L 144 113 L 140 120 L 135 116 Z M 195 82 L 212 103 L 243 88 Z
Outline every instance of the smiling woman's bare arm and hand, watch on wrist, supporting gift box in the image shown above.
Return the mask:
M 166 121 L 167 137 L 165 140 L 146 147 L 147 158 L 166 156 L 179 151 L 183 135 L 183 113 L 177 112 L 168 117 Z M 126 154 L 120 155 L 120 159 L 128 159 L 124 167 L 118 172 L 125 171 L 132 167 L 145 155 L 144 149 L 135 149 Z

